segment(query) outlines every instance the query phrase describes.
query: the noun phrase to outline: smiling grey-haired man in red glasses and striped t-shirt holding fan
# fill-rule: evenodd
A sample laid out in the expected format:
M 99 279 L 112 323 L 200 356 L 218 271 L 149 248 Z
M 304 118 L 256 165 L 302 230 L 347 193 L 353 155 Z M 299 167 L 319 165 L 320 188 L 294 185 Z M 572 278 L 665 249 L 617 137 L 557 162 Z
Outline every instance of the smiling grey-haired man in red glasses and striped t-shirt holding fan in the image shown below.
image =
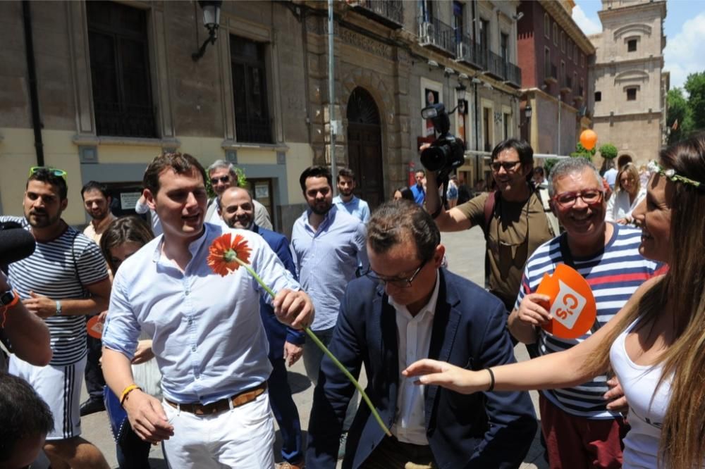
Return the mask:
M 605 189 L 589 161 L 560 161 L 551 170 L 549 190 L 551 206 L 565 232 L 529 257 L 508 322 L 510 332 L 521 342 L 539 342 L 539 355 L 569 349 L 587 339 L 660 267 L 639 254 L 641 230 L 605 221 Z M 553 274 L 560 263 L 575 268 L 596 299 L 597 318 L 591 332 L 577 339 L 560 339 L 541 328 L 551 315 L 546 311 L 548 296 L 536 290 L 544 275 Z M 551 468 L 622 467 L 621 440 L 627 426 L 618 403 L 608 403 L 603 397 L 608 391 L 606 381 L 602 375 L 575 387 L 539 394 L 541 429 Z M 611 394 L 620 397 L 621 388 Z

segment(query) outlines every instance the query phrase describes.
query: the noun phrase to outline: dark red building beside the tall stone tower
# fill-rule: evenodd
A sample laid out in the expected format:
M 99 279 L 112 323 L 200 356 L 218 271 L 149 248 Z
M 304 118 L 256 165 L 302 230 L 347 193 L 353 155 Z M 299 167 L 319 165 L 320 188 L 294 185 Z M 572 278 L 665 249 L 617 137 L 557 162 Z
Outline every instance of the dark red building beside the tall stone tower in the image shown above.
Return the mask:
M 595 49 L 572 20 L 574 6 L 572 0 L 541 0 L 522 1 L 518 8 L 522 137 L 537 154 L 569 155 L 591 126 L 587 96 Z

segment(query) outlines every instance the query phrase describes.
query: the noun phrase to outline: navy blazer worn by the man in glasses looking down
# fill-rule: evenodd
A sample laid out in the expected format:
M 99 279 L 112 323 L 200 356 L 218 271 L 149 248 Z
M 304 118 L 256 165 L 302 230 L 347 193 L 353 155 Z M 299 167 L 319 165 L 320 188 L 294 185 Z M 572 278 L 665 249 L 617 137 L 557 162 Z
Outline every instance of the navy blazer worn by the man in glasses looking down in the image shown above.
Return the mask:
M 440 269 L 429 358 L 470 370 L 515 362 L 501 301 L 476 284 Z M 391 428 L 399 386 L 396 311 L 381 285 L 362 277 L 348 286 L 330 346 L 355 377 L 364 363 L 367 389 Z M 335 468 L 345 409 L 354 386 L 324 356 L 309 420 L 307 468 Z M 424 389 L 427 437 L 443 469 L 516 468 L 537 423 L 527 392 L 459 394 Z M 384 438 L 364 401 L 348 432 L 343 468 L 359 468 Z

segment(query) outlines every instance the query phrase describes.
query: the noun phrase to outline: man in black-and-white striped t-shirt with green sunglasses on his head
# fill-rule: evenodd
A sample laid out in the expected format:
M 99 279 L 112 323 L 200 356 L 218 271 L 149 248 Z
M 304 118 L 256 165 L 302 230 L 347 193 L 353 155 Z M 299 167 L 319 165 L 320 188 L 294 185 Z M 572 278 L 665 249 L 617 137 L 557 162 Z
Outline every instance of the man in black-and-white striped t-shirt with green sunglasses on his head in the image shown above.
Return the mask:
M 98 246 L 61 219 L 68 206 L 66 171 L 30 169 L 21 223 L 37 241 L 35 252 L 11 263 L 8 277 L 28 311 L 44 318 L 53 356 L 37 367 L 16 356 L 9 373 L 32 385 L 54 414 L 44 452 L 54 468 L 107 468 L 100 451 L 80 437 L 78 403 L 86 363 L 85 316 L 108 308 L 110 280 Z

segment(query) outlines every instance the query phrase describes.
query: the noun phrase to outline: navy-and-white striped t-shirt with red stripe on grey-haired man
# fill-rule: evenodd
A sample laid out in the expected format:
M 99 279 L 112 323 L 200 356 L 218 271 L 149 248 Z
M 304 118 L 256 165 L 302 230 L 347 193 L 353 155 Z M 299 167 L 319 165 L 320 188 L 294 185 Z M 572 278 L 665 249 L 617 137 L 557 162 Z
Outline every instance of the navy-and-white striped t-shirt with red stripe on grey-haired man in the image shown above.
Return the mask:
M 639 285 L 654 275 L 664 273 L 666 267 L 649 261 L 639 254 L 641 230 L 613 224 L 614 232 L 605 246 L 589 258 L 573 258 L 575 269 L 587 280 L 597 304 L 597 320 L 605 325 L 627 303 Z M 536 292 L 544 273 L 552 274 L 556 265 L 563 263 L 560 254 L 560 236 L 542 244 L 527 261 L 515 308 L 526 294 Z M 559 339 L 539 329 L 539 354 L 570 349 L 587 339 L 591 332 L 578 339 Z M 607 392 L 607 377 L 600 375 L 580 386 L 542 391 L 546 399 L 566 413 L 586 418 L 613 418 L 619 413 L 607 411 L 602 395 Z

